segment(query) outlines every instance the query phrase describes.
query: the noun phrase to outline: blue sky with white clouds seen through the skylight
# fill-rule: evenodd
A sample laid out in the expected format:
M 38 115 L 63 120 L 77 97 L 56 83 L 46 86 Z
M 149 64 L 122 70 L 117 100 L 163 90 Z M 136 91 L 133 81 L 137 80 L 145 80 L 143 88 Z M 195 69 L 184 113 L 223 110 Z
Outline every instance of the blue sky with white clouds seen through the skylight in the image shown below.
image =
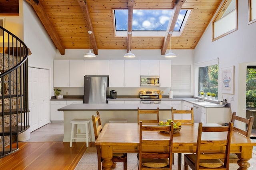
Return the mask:
M 180 31 L 187 10 L 180 10 L 174 31 Z M 132 31 L 166 31 L 172 10 L 133 10 Z M 115 10 L 116 31 L 127 31 L 128 10 Z

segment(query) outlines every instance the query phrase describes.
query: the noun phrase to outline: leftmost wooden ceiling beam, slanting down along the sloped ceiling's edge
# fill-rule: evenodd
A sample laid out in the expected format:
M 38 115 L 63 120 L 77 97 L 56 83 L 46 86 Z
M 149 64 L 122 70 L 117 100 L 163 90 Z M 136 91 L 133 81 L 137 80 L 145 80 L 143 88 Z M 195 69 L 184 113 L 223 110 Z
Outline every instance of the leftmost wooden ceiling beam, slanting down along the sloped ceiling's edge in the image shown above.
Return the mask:
M 34 8 L 34 11 L 36 12 L 38 18 L 41 20 L 42 24 L 44 25 L 44 28 L 46 29 L 50 38 L 52 39 L 52 42 L 54 43 L 56 48 L 60 51 L 60 54 L 64 55 L 65 48 L 62 45 L 62 42 L 54 26 L 52 25 L 48 16 L 44 12 L 44 8 L 42 7 L 41 3 L 38 0 L 26 0 L 26 2 L 28 2 Z

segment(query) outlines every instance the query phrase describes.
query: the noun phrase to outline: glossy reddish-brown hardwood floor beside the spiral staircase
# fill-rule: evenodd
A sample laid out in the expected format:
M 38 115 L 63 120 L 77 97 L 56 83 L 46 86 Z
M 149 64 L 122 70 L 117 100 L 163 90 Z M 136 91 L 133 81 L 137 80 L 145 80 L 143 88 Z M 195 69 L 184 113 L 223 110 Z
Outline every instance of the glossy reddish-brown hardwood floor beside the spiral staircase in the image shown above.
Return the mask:
M 73 170 L 86 142 L 19 142 L 17 152 L 0 159 L 1 170 Z

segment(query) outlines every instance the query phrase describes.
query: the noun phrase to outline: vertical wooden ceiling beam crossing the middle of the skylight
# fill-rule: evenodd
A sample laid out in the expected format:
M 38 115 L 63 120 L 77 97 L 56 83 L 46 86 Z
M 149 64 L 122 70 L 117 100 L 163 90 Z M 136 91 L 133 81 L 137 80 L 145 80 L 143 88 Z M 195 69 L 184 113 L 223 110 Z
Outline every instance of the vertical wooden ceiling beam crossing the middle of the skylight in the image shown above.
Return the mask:
M 134 0 L 128 0 L 128 28 L 127 32 L 132 32 L 132 15 L 133 15 Z M 132 34 L 127 35 L 127 52 L 131 49 L 130 42 L 132 41 Z

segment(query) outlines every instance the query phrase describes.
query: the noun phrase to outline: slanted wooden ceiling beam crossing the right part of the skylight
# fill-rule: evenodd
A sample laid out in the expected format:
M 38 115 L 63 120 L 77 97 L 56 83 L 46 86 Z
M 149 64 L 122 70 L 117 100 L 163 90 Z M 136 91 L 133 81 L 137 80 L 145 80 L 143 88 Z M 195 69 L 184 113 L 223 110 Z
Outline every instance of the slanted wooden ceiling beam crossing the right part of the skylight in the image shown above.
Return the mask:
M 172 15 L 166 30 L 166 34 L 164 37 L 164 42 L 161 48 L 161 55 L 164 55 L 166 52 L 166 49 L 168 47 L 168 44 L 170 42 L 170 38 L 172 36 L 172 34 L 168 34 L 170 31 L 174 30 L 175 24 L 177 22 L 178 16 L 180 14 L 180 9 L 182 7 L 182 5 L 184 4 L 185 0 L 177 0 L 176 1 L 176 5 L 174 6 L 173 10 L 172 10 Z

